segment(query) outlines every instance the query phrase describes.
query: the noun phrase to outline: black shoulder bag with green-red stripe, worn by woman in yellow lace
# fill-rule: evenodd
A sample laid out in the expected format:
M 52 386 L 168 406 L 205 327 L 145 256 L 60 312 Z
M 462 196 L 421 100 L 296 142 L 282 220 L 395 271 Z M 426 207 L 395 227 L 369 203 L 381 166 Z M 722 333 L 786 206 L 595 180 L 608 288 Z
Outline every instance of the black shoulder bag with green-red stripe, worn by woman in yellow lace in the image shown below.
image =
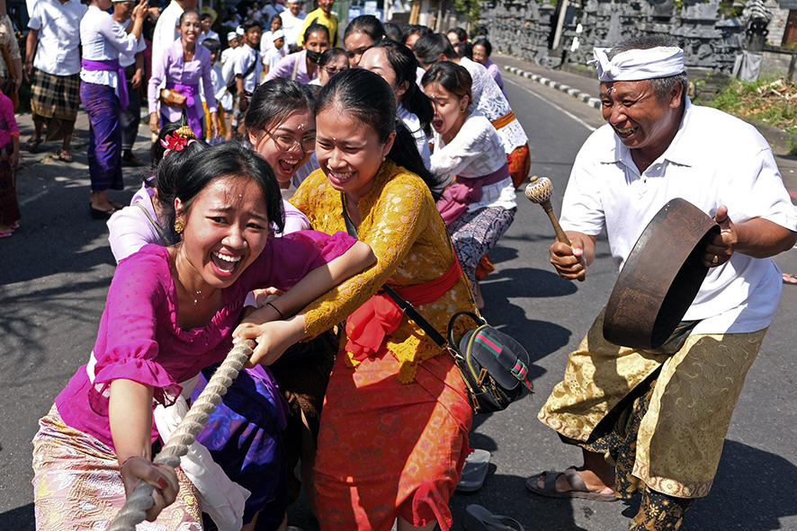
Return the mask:
M 346 212 L 344 194 L 340 194 L 346 232 L 358 238 L 351 218 Z M 456 252 L 454 252 L 456 260 Z M 415 306 L 404 300 L 387 284 L 382 290 L 401 308 L 401 311 L 426 332 L 441 349 L 448 352 L 462 380 L 468 388 L 470 403 L 477 413 L 500 412 L 524 395 L 524 390 L 533 393 L 528 378 L 529 354 L 523 345 L 504 332 L 490 326 L 478 314 L 458 312 L 448 323 L 448 341 L 443 335 L 417 313 Z M 465 332 L 460 341 L 454 338 L 454 325 L 461 316 L 470 317 L 477 328 Z

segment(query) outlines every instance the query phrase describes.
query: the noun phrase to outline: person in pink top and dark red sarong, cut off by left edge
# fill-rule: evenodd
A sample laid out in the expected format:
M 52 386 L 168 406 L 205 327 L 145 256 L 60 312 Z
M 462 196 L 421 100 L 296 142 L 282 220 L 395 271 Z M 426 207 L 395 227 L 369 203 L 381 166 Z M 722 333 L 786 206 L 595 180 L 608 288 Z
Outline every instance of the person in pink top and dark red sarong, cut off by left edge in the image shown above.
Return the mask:
M 0 93 L 0 238 L 19 228 L 20 206 L 16 200 L 16 167 L 20 164 L 20 129 L 13 116 L 13 102 Z

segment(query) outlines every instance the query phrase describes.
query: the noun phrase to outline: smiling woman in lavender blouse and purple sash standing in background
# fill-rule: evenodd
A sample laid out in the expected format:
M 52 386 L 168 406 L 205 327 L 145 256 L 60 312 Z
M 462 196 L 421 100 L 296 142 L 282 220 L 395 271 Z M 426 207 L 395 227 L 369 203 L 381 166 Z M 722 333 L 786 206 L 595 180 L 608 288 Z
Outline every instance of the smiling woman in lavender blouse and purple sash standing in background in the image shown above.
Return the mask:
M 193 130 L 197 138 L 204 138 L 203 124 L 205 111 L 202 108 L 200 97 L 201 87 L 205 93 L 210 111 L 210 128 L 213 137 L 219 136 L 219 119 L 216 114 L 216 96 L 213 93 L 213 82 L 210 79 L 210 51 L 197 43 L 201 34 L 199 12 L 191 9 L 180 15 L 177 24 L 180 39 L 175 40 L 171 47 L 163 54 L 162 60 L 152 64 L 152 76 L 149 78 L 149 128 L 157 135 L 160 130 L 160 121 L 157 116 L 158 103 L 163 123 L 175 122 L 183 119 Z M 166 81 L 166 89 L 175 90 L 186 97 L 185 109 L 166 102 L 158 102 L 160 84 Z

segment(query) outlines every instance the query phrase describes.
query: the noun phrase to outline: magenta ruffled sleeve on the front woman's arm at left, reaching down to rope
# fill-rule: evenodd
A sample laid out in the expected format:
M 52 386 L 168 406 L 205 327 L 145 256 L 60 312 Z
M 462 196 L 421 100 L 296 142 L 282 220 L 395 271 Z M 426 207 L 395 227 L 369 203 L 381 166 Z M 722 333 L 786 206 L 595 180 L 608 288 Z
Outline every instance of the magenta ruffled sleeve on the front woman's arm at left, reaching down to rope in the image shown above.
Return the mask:
M 180 385 L 158 361 L 157 328 L 171 323 L 175 314 L 167 296 L 170 279 L 163 247 L 146 245 L 119 262 L 94 346 L 94 385 L 89 392 L 94 412 L 107 414 L 108 388 L 117 378 L 152 386 L 155 401 L 164 405 L 180 394 Z

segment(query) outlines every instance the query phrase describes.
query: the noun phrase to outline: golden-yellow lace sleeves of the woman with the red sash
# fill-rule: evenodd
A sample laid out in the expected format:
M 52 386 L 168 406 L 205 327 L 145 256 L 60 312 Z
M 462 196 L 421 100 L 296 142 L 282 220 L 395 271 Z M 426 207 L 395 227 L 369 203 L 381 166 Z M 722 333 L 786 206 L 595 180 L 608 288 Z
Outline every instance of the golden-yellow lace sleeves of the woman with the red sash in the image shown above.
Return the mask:
M 412 173 L 397 173 L 391 178 L 384 173 L 398 169 L 385 165 L 388 168 L 383 167 L 374 188 L 360 201 L 362 222 L 357 228 L 359 239 L 371 245 L 377 263 L 305 308 L 305 332 L 311 337 L 341 323 L 371 298 L 407 259 L 418 236 L 428 229 L 432 215 L 437 214 L 432 195 L 420 178 Z M 309 183 L 309 189 L 312 187 Z M 314 228 L 326 233 L 345 230 L 340 194 L 328 185 L 327 189 L 315 190 L 310 199 L 309 202 L 317 201 L 314 210 L 322 208 L 312 213 L 310 221 Z M 307 199 L 306 194 L 301 195 Z M 307 204 L 304 200 L 298 202 Z M 299 204 L 296 206 L 300 208 Z

